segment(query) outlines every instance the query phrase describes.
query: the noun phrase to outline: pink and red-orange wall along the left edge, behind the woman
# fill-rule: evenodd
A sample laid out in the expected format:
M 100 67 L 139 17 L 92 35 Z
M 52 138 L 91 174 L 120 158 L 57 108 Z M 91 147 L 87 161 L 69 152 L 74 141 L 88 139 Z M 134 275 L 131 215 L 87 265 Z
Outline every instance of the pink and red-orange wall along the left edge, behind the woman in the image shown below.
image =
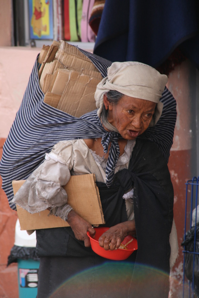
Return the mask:
M 0 47 L 0 158 L 39 52 L 40 49 Z M 0 298 L 18 297 L 17 264 L 7 267 L 7 257 L 14 245 L 16 220 L 17 214 L 10 209 L 0 188 Z

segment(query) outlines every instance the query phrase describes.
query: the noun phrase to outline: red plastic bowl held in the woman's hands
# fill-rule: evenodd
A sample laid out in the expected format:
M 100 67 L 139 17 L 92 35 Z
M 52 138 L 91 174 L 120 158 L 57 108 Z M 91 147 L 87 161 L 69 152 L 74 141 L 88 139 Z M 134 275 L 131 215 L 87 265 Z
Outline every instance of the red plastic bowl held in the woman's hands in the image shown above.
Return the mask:
M 90 233 L 87 232 L 88 237 L 91 241 L 92 250 L 101 257 L 110 260 L 125 260 L 127 259 L 136 249 L 138 249 L 137 239 L 132 236 L 127 236 L 123 240 L 123 244 L 126 244 L 133 238 L 133 241 L 130 242 L 127 246 L 127 249 L 114 249 L 114 250 L 105 250 L 103 247 L 99 246 L 99 237 L 108 230 L 106 227 L 95 228 L 95 239 L 91 237 Z

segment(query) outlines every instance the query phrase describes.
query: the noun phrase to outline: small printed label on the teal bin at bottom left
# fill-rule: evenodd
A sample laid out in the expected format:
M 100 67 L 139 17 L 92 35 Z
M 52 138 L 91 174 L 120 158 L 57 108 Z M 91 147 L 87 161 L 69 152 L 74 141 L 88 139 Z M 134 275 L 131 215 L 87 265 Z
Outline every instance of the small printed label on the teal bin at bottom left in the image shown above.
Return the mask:
M 21 288 L 37 288 L 38 269 L 19 268 L 19 283 Z

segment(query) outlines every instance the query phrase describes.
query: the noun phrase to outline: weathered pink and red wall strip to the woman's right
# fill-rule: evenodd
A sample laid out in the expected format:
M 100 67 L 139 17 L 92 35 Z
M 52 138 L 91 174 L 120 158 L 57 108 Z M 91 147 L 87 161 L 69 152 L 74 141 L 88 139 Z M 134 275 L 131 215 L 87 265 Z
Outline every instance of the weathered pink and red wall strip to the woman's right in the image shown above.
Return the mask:
M 197 173 L 197 126 L 196 106 L 198 71 L 188 60 L 169 75 L 167 87 L 177 102 L 177 121 L 168 163 L 174 187 L 174 219 L 178 232 L 179 257 L 172 270 L 172 283 L 175 285 L 174 296 L 182 297 L 183 280 L 183 247 L 184 236 L 186 182 Z M 190 202 L 189 202 L 190 203 Z M 190 204 L 189 204 L 190 206 Z M 188 218 L 190 209 L 188 208 Z M 180 294 L 179 294 L 180 293 Z M 179 296 L 178 296 L 179 295 Z

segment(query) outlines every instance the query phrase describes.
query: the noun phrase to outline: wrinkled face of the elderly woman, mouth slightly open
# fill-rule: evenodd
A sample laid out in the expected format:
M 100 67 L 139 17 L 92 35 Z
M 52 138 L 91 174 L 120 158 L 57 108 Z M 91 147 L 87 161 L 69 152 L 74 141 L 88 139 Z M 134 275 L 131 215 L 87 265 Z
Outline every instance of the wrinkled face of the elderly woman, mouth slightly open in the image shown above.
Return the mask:
M 134 140 L 148 127 L 155 112 L 156 103 L 139 98 L 122 96 L 117 104 L 110 103 L 104 96 L 107 120 L 114 125 L 121 136 Z

